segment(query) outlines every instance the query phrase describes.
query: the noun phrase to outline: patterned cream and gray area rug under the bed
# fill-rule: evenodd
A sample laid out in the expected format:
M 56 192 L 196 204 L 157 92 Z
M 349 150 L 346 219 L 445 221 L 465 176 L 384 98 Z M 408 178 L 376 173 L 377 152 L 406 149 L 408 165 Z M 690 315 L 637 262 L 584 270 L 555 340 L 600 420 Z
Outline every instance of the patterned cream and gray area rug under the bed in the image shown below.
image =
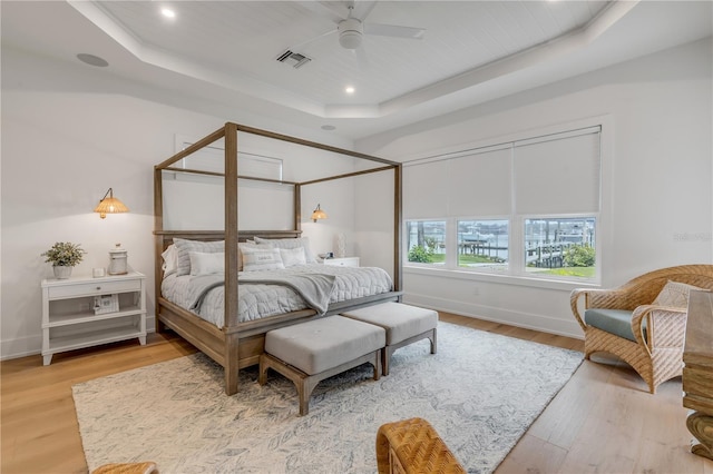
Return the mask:
M 469 472 L 489 473 L 582 363 L 582 353 L 440 323 L 397 350 L 389 376 L 363 365 L 320 383 L 307 416 L 294 385 L 256 367 L 240 393 L 203 354 L 72 387 L 89 470 L 155 461 L 168 473 L 374 473 L 383 423 L 426 418 Z

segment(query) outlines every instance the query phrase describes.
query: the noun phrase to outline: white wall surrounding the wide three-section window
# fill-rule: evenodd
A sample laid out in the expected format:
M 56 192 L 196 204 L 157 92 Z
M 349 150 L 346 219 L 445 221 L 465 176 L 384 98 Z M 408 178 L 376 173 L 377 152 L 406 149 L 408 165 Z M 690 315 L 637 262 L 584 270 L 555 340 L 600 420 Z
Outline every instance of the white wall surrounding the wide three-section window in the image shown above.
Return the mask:
M 602 285 L 672 265 L 711 264 L 711 58 L 709 38 L 388 131 L 356 148 L 409 160 L 605 117 Z M 580 337 L 569 309 L 572 288 L 404 270 L 406 302 Z

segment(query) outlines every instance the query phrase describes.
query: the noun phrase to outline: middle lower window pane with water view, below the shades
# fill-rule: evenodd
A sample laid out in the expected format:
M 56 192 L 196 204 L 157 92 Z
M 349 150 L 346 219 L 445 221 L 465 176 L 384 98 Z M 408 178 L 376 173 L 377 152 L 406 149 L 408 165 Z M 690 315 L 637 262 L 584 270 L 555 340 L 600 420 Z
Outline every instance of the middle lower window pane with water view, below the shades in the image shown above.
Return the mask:
M 459 220 L 458 266 L 502 271 L 508 268 L 507 220 Z

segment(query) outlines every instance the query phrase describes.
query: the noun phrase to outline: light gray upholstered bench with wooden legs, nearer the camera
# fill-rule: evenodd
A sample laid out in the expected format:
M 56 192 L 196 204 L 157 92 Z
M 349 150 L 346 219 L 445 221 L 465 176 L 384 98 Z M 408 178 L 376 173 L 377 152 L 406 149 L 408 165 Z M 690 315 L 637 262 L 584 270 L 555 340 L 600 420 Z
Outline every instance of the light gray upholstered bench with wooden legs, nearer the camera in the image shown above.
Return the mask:
M 378 381 L 385 342 L 382 327 L 342 316 L 270 330 L 257 382 L 265 384 L 268 368 L 287 377 L 297 388 L 300 415 L 304 416 L 310 412 L 312 391 L 328 377 L 371 363 Z

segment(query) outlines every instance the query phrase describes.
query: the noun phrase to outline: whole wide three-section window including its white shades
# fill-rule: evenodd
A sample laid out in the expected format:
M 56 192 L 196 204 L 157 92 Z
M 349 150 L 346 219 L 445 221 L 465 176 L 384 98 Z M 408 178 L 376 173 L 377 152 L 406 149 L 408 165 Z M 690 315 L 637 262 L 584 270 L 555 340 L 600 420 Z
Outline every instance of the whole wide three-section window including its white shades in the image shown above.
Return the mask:
M 403 168 L 407 266 L 596 279 L 602 127 Z

